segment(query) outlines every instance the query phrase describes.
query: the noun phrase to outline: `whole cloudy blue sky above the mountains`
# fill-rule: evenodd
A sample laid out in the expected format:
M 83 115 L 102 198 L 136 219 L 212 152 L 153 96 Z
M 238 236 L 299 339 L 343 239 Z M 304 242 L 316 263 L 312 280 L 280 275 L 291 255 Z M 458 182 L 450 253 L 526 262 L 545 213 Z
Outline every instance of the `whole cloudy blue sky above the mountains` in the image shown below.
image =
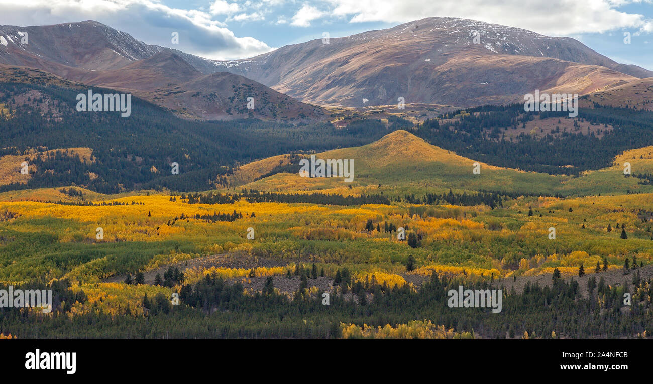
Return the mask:
M 432 16 L 573 37 L 615 61 L 653 70 L 653 0 L 0 0 L 0 25 L 96 20 L 210 59 L 252 57 L 325 32 L 343 37 Z

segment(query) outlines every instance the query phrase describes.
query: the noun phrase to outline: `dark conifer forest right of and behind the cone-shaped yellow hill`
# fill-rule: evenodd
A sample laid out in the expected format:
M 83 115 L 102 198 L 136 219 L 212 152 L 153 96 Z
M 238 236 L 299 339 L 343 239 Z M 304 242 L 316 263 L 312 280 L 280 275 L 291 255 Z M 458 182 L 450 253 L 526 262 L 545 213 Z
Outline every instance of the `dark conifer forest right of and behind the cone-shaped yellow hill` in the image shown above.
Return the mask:
M 516 129 L 528 120 L 570 119 L 565 112 L 524 114 L 523 104 L 480 106 L 457 110 L 426 120 L 415 135 L 459 155 L 502 167 L 549 174 L 578 175 L 584 170 L 607 167 L 618 153 L 653 144 L 653 112 L 596 105 L 580 108 L 577 120 L 614 127 L 601 138 L 564 132 L 537 138 L 522 135 L 517 141 L 503 138 L 502 130 Z M 445 123 L 439 120 L 447 120 Z

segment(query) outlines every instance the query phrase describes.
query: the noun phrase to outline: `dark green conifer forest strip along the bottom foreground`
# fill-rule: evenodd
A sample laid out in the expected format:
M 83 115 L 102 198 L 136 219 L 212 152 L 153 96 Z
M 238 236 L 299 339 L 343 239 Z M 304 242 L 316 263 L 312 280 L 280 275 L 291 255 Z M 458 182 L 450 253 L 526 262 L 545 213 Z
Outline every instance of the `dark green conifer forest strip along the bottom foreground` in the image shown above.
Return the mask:
M 573 280 L 558 279 L 551 287 L 527 285 L 523 293 L 504 287 L 501 313 L 449 308 L 445 292 L 463 283 L 471 289 L 490 287 L 488 281 L 471 283 L 434 273 L 419 290 L 372 283 L 358 288 L 360 297 L 370 298 L 355 302 L 334 295 L 327 306 L 321 295 L 308 295 L 308 289 L 293 297 L 272 290 L 246 294 L 240 283 L 227 284 L 207 275 L 193 286 L 182 286 L 179 305 L 172 305 L 163 293 L 145 293 L 137 303 L 142 315 L 127 308 L 119 316 L 95 311 L 71 316 L 75 306 L 89 298 L 67 281 L 57 281 L 48 286 L 54 289 L 56 303 L 52 316 L 5 308 L 0 310 L 0 333 L 23 338 L 556 339 L 642 337 L 653 332 L 650 302 L 632 306 L 629 315 L 622 315 L 624 287 L 610 287 L 603 281 L 594 283 L 588 298 L 580 295 Z M 633 302 L 653 295 L 650 280 L 631 288 L 636 292 Z M 424 332 L 426 321 L 414 319 L 432 319 L 443 332 Z M 396 325 L 395 332 L 388 329 L 390 324 Z M 404 329 L 397 332 L 398 328 Z

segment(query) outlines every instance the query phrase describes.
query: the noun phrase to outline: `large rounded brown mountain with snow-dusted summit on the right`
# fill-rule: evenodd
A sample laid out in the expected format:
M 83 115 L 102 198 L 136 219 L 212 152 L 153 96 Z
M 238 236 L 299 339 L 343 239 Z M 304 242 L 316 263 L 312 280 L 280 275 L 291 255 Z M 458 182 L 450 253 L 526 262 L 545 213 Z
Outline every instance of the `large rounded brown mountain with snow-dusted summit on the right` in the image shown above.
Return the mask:
M 404 97 L 466 107 L 523 101 L 535 89 L 582 95 L 653 76 L 574 39 L 460 18 L 425 18 L 328 44 L 311 40 L 221 65 L 296 99 L 343 106 Z M 577 84 L 567 86 L 570 80 Z

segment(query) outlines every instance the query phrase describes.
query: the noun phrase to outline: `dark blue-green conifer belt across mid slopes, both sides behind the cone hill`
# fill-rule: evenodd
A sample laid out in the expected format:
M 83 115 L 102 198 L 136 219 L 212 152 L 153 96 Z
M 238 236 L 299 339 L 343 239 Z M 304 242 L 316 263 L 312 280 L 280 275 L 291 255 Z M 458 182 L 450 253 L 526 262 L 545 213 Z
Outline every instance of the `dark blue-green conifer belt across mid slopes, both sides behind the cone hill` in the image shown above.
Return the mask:
M 31 90 L 41 96 L 29 103 L 16 101 Z M 412 123 L 396 116 L 387 123 L 362 119 L 336 129 L 329 123 L 189 121 L 137 98 L 133 98 L 132 116 L 120 118 L 74 112 L 76 92 L 0 84 L 0 103 L 12 116 L 0 118 L 0 155 L 25 155 L 33 167 L 27 182 L 0 185 L 0 192 L 69 185 L 100 193 L 206 191 L 230 187 L 227 176 L 249 161 L 282 153 L 291 153 L 292 160 L 300 153 L 360 146 L 396 129 L 412 129 L 431 144 L 492 165 L 573 176 L 611 165 L 614 156 L 624 150 L 653 144 L 652 112 L 598 105 L 581 108 L 577 121 L 613 127 L 600 138 L 594 131 L 589 135 L 565 131 L 507 140 L 504 133 L 526 121 L 569 118 L 561 112 L 524 114 L 520 104 L 513 104 L 457 110 L 414 129 Z M 35 150 L 76 147 L 91 148 L 92 161 L 65 151 L 31 155 Z M 172 174 L 172 163 L 178 164 L 179 174 Z M 259 178 L 297 169 L 293 162 L 278 165 Z

